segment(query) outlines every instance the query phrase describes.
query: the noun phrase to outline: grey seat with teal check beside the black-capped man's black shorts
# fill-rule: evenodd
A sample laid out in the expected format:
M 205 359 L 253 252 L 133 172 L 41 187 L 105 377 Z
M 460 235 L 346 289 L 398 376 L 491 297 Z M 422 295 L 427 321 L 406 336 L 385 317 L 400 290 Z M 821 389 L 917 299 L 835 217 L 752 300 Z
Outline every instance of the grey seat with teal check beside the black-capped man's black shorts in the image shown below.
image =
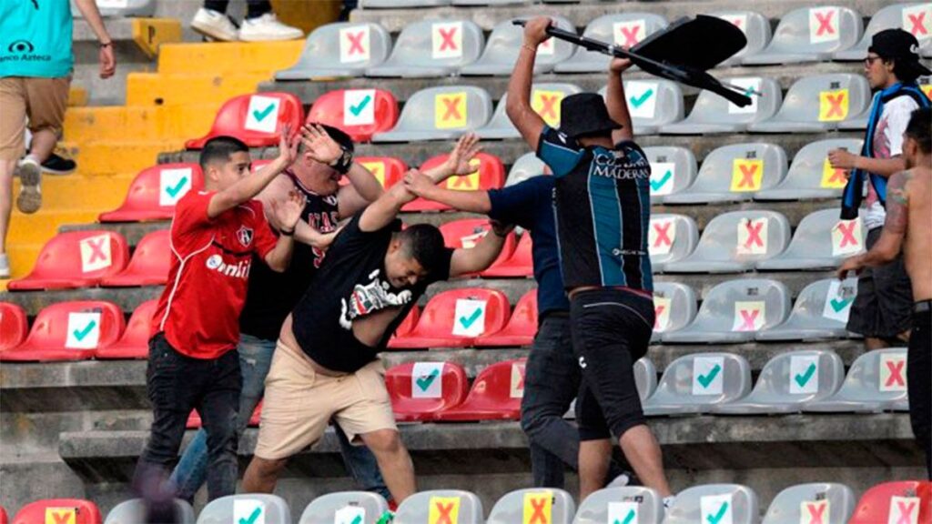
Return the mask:
M 758 341 L 846 338 L 857 279 L 825 279 L 805 286 L 796 297 L 787 322 L 757 334 Z

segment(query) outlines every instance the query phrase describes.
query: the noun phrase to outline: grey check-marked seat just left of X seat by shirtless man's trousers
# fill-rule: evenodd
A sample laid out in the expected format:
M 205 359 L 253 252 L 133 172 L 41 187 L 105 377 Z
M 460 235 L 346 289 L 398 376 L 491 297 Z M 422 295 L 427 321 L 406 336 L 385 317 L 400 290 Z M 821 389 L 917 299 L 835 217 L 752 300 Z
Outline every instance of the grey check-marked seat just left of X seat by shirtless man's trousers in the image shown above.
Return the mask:
M 830 350 L 786 352 L 763 366 L 754 391 L 712 408 L 718 415 L 798 413 L 810 401 L 838 391 L 844 380 L 842 357 Z

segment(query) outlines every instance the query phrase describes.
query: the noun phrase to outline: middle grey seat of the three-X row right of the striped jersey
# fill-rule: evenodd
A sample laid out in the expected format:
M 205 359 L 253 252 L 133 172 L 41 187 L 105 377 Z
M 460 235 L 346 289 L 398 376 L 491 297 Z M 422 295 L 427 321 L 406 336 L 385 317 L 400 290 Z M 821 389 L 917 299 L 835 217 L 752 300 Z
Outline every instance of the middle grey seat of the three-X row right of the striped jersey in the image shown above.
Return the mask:
M 664 266 L 667 273 L 747 271 L 786 249 L 787 217 L 773 211 L 733 211 L 706 225 L 692 255 Z

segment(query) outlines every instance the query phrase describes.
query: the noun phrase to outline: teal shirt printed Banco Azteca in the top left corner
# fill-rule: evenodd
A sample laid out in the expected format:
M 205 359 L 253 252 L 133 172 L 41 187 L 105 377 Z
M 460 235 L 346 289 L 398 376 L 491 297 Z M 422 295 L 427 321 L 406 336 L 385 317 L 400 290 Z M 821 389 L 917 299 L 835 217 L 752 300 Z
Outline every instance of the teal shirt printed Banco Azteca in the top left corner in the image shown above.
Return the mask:
M 73 26 L 68 0 L 0 0 L 0 77 L 70 75 Z

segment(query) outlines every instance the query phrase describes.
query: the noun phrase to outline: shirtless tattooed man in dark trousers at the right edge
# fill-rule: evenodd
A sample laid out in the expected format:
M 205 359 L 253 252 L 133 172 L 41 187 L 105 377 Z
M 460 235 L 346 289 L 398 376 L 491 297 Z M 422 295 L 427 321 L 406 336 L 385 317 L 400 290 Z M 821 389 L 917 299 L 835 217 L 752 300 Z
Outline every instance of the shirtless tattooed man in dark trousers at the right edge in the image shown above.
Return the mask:
M 912 333 L 906 365 L 912 433 L 925 452 L 925 467 L 932 477 L 932 110 L 912 112 L 903 133 L 903 156 L 907 171 L 890 179 L 886 221 L 880 240 L 864 255 L 852 256 L 838 269 L 875 268 L 893 260 L 900 249 L 912 281 Z

